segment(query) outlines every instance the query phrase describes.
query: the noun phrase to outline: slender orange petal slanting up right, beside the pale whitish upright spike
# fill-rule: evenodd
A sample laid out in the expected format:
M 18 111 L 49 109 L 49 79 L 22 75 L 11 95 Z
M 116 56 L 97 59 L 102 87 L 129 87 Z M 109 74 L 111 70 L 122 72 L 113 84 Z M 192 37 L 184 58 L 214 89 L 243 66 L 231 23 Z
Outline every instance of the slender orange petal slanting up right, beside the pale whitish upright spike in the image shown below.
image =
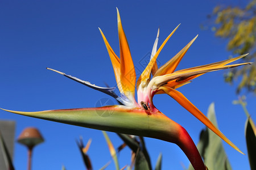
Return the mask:
M 141 76 L 139 76 L 139 79 L 137 81 L 137 88 L 139 87 L 140 84 L 146 84 L 147 80 L 150 78 L 150 73 L 151 73 L 152 67 L 154 66 L 154 63 L 156 62 L 156 58 L 158 58 L 158 55 L 161 52 L 161 50 L 163 49 L 164 45 L 166 45 L 166 42 L 174 34 L 176 29 L 179 27 L 179 25 L 177 25 L 177 27 L 174 29 L 174 31 L 172 31 L 170 33 L 170 35 L 166 38 L 166 40 L 164 40 L 163 44 L 160 46 L 160 48 L 156 52 L 155 56 L 148 63 L 146 69 L 142 72 Z

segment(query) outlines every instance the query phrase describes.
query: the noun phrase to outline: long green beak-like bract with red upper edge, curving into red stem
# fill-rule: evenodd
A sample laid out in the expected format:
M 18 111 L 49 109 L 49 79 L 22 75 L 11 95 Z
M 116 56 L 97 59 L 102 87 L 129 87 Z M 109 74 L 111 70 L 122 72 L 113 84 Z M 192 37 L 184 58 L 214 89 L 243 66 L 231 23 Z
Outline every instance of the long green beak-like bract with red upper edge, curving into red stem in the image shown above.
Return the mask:
M 193 165 L 193 168 L 205 169 L 205 165 L 201 159 L 199 151 L 187 131 L 161 112 L 148 114 L 143 109 L 127 109 L 115 106 L 60 109 L 42 112 L 3 110 L 22 114 L 24 116 L 82 126 L 85 128 L 138 135 L 172 142 L 183 150 Z M 109 117 L 100 116 L 106 112 L 109 112 Z

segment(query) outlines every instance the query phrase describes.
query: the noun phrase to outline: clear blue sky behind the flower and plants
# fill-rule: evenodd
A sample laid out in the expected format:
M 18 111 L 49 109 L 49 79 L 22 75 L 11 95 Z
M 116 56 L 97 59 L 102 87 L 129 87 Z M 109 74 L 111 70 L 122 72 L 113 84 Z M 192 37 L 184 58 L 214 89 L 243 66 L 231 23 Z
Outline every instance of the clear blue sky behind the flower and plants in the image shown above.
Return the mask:
M 144 56 L 151 52 L 160 27 L 159 44 L 179 23 L 179 29 L 168 41 L 158 57 L 163 64 L 174 56 L 197 34 L 178 69 L 221 61 L 230 56 L 226 41 L 214 37 L 200 24 L 210 24 L 207 14 L 224 1 L 1 1 L 0 2 L 0 107 L 17 111 L 94 107 L 99 99 L 109 96 L 94 91 L 64 76 L 46 70 L 63 71 L 89 82 L 115 86 L 115 78 L 108 52 L 98 31 L 102 29 L 110 45 L 119 54 L 117 14 L 119 8 L 123 28 L 129 41 L 137 73 L 143 70 Z M 244 5 L 243 1 L 225 1 Z M 141 63 L 141 64 L 140 64 Z M 220 130 L 247 153 L 244 136 L 246 116 L 239 105 L 235 86 L 224 83 L 225 71 L 208 73 L 179 88 L 203 113 L 214 101 Z M 236 84 L 235 84 L 236 85 Z M 113 100 L 114 102 L 114 100 Z M 175 120 L 191 135 L 195 143 L 204 125 L 167 95 L 155 96 L 156 107 Z M 255 97 L 247 96 L 249 112 L 256 120 Z M 84 169 L 75 139 L 80 135 L 87 142 L 92 138 L 89 156 L 94 169 L 111 160 L 101 131 L 56 122 L 39 120 L 0 111 L 3 120 L 16 121 L 15 138 L 27 126 L 38 128 L 45 142 L 34 150 L 32 168 Z M 108 133 L 114 146 L 121 140 Z M 188 167 L 188 159 L 172 143 L 146 138 L 152 165 L 159 152 L 163 153 L 163 169 Z M 249 169 L 247 156 L 224 143 L 233 169 Z M 130 150 L 118 156 L 121 167 L 130 164 Z M 26 148 L 15 143 L 14 165 L 27 169 Z M 107 169 L 114 169 L 112 162 Z

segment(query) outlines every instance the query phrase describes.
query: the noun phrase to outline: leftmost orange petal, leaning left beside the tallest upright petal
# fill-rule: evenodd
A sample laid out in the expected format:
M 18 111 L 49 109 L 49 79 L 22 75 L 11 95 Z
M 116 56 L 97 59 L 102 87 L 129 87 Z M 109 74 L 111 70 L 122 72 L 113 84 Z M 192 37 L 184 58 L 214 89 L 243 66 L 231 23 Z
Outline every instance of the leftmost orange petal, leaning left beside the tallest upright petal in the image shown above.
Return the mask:
M 98 28 L 98 29 L 100 29 L 100 28 Z M 118 87 L 119 91 L 123 94 L 122 86 L 120 83 L 121 82 L 120 81 L 120 78 L 121 78 L 120 59 L 114 53 L 114 50 L 109 45 L 109 42 L 106 40 L 106 37 L 105 37 L 104 33 L 101 31 L 101 29 L 100 29 L 100 32 L 101 32 L 102 38 L 105 42 L 106 48 L 108 49 L 109 57 L 111 59 L 112 66 L 114 69 L 115 80 L 117 81 L 117 87 Z

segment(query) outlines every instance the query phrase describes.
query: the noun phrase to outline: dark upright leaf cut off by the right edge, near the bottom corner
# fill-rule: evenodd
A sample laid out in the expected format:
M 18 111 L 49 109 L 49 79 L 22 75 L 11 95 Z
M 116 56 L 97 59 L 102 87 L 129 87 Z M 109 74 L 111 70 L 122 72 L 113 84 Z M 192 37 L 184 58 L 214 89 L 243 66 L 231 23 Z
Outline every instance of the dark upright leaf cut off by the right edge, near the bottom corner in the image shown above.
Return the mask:
M 245 138 L 251 169 L 256 169 L 256 137 L 254 131 L 252 120 L 248 117 L 245 123 Z

